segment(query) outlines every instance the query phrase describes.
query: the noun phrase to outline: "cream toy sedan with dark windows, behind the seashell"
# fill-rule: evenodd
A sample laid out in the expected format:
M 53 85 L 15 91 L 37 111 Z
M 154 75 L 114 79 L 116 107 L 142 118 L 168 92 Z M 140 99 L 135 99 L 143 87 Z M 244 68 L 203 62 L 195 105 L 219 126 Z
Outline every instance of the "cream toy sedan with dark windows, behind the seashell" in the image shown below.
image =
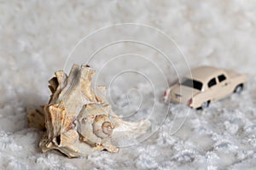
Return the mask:
M 180 83 L 168 88 L 165 101 L 205 109 L 211 102 L 232 93 L 240 93 L 246 83 L 246 75 L 212 66 L 201 66 L 189 72 Z

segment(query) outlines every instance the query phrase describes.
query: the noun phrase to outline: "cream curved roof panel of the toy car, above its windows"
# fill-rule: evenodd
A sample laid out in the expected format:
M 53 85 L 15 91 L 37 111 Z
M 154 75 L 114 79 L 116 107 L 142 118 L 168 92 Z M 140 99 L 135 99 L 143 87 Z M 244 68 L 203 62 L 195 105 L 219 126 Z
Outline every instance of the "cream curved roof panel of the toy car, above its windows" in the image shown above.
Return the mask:
M 192 75 L 193 79 L 205 83 L 212 79 L 212 77 L 217 77 L 222 73 L 224 73 L 224 70 L 222 69 L 218 69 L 213 66 L 201 66 L 193 69 L 186 75 L 186 77 L 191 78 Z

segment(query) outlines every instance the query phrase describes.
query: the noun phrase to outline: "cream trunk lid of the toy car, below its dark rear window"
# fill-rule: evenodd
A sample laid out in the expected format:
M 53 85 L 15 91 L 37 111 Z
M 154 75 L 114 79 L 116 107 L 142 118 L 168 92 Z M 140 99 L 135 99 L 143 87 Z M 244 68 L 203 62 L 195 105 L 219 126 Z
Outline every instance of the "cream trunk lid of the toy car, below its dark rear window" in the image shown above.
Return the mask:
M 188 104 L 189 99 L 193 98 L 196 94 L 199 94 L 201 91 L 195 88 L 189 88 L 187 86 L 175 85 L 171 89 L 171 96 L 173 100 L 180 100 L 183 104 Z

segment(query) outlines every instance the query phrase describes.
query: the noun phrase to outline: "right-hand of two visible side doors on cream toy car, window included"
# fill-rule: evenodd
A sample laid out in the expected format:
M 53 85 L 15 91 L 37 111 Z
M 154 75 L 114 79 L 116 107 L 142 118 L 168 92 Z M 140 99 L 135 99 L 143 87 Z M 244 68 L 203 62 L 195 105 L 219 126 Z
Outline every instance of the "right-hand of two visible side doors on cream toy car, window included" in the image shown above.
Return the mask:
M 218 99 L 224 98 L 226 95 L 230 94 L 230 82 L 224 74 L 220 74 L 217 77 L 219 89 L 218 89 Z

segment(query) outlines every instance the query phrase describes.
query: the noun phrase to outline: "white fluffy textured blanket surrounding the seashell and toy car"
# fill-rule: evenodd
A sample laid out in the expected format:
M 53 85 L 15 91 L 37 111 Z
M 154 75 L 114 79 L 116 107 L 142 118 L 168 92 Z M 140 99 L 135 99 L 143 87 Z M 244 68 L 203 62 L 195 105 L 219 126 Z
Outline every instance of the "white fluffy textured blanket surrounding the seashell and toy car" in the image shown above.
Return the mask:
M 255 8 L 254 0 L 0 1 L 0 169 L 255 168 Z M 164 82 L 160 86 L 162 79 L 153 66 L 141 59 L 132 63 L 129 58 L 115 61 L 102 72 L 99 81 L 108 86 L 110 78 L 127 65 L 133 65 L 134 70 L 142 68 L 139 71 L 145 71 L 148 77 L 151 75 L 155 95 L 148 82 L 131 75 L 119 77 L 110 90 L 113 102 L 125 105 L 124 91 L 136 88 L 135 93 L 128 93 L 131 110 L 140 101 L 137 92 L 146 96 L 138 113 L 143 115 L 151 111 L 149 120 L 152 130 L 157 131 L 143 143 L 122 148 L 117 154 L 99 152 L 87 159 L 68 159 L 56 151 L 42 154 L 38 142 L 43 133 L 27 127 L 26 107 L 47 103 L 47 81 L 54 76 L 54 71 L 63 69 L 66 62 L 67 65 L 76 62 L 76 59 L 67 61 L 67 56 L 81 38 L 103 26 L 127 22 L 166 32 L 177 42 L 191 67 L 215 65 L 246 73 L 247 88 L 241 95 L 234 94 L 218 101 L 206 111 L 189 111 L 189 115 L 188 108 L 171 105 L 171 113 L 166 116 L 167 106 L 161 103 L 160 97 L 167 86 Z M 119 35 L 120 31 L 95 37 L 86 45 L 86 50 L 95 49 L 96 43 L 103 40 L 111 42 L 115 33 Z M 172 43 L 168 48 L 165 41 L 148 30 L 137 33 L 143 34 L 143 41 L 157 42 L 161 48 L 173 51 L 171 59 L 180 74 L 188 71 Z M 118 47 L 126 48 L 125 45 Z M 165 75 L 170 74 L 167 81 L 175 81 L 175 72 L 165 69 L 168 66 L 160 54 L 147 48 L 140 50 L 139 46 L 128 45 L 127 48 L 131 49 L 129 53 L 135 54 L 147 51 L 148 59 L 153 58 Z M 101 56 L 122 54 L 121 50 L 116 53 L 117 50 L 110 48 L 102 51 Z M 82 52 L 78 55 L 87 59 Z M 107 58 L 96 59 L 91 65 L 98 71 Z M 83 59 L 77 60 L 83 62 Z M 155 105 L 150 110 L 152 102 Z M 162 125 L 158 117 L 166 118 Z M 183 127 L 171 135 L 174 117 L 181 122 L 187 119 Z

